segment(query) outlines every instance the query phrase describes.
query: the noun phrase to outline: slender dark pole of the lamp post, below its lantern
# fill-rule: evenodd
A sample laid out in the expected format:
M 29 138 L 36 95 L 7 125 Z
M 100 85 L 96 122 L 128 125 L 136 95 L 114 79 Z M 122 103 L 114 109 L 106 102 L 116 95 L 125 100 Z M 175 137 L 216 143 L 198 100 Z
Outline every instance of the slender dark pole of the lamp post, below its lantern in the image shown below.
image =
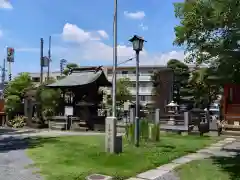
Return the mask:
M 139 146 L 139 51 L 136 51 L 136 117 L 135 117 L 135 146 Z

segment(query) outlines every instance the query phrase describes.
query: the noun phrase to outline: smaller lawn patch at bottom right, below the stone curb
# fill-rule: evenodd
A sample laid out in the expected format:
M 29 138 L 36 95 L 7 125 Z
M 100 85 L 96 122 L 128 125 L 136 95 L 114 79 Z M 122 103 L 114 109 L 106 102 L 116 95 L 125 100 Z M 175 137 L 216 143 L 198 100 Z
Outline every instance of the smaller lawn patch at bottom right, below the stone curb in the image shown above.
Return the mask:
M 240 157 L 193 161 L 176 170 L 181 180 L 239 180 Z

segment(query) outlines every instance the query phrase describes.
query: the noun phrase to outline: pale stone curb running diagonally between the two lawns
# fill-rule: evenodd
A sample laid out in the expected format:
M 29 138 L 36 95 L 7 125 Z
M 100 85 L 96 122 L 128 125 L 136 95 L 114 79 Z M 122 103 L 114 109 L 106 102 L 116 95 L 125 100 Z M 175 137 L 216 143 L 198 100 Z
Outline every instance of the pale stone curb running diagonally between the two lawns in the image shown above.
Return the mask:
M 183 164 L 189 163 L 194 160 L 201 160 L 204 158 L 209 158 L 211 156 L 218 155 L 214 152 L 221 151 L 224 146 L 235 142 L 235 138 L 225 138 L 224 140 L 218 141 L 209 147 L 198 150 L 196 153 L 188 154 L 183 157 L 177 158 L 168 164 L 164 164 L 156 169 L 151 169 L 149 171 L 138 174 L 136 177 L 129 178 L 128 180 L 163 180 L 166 176 L 173 170 Z M 176 178 L 178 179 L 178 178 Z

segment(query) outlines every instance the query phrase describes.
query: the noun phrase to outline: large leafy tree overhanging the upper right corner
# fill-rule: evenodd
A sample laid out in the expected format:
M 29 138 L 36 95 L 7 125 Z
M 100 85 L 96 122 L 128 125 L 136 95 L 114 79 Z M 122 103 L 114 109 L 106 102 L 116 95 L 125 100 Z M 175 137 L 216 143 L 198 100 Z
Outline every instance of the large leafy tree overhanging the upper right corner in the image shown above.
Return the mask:
M 175 44 L 186 47 L 186 61 L 205 63 L 227 82 L 240 82 L 240 1 L 194 0 L 175 3 L 180 25 Z

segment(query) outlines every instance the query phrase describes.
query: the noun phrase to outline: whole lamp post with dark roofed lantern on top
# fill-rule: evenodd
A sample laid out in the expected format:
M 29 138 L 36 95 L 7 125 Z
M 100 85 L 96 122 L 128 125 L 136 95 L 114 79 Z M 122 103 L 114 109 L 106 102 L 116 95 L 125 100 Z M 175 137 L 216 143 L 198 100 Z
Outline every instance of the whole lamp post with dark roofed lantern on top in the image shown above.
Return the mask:
M 146 42 L 142 37 L 134 35 L 129 40 L 133 45 L 133 50 L 136 52 L 136 117 L 135 117 L 135 146 L 139 146 L 140 139 L 140 123 L 139 123 L 139 52 L 143 49 L 143 44 Z

